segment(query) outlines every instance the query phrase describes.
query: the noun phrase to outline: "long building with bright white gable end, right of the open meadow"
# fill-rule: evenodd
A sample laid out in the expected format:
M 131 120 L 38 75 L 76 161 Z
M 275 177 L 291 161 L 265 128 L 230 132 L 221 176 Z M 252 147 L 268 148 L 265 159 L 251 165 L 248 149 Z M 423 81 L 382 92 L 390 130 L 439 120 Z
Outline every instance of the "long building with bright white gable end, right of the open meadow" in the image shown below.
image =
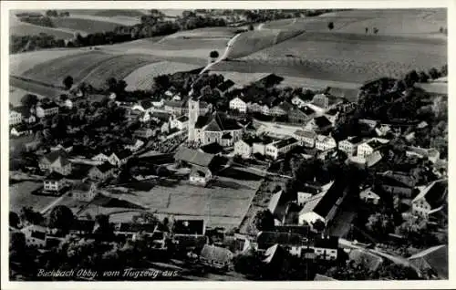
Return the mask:
M 299 224 L 308 224 L 313 229 L 316 221 L 329 223 L 347 194 L 341 183 L 342 181 L 334 181 L 327 191 L 320 192 L 308 199 L 299 212 Z

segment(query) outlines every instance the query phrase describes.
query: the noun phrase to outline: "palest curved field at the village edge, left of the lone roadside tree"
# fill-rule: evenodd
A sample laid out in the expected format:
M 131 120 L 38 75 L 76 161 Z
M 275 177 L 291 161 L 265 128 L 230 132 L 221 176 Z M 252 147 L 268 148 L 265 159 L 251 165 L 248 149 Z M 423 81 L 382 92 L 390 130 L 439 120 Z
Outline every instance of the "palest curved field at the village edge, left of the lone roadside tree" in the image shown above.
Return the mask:
M 154 77 L 164 74 L 173 74 L 180 71 L 189 71 L 199 68 L 190 64 L 161 61 L 140 67 L 131 72 L 129 76 L 124 78 L 127 82 L 127 90 L 135 89 L 150 89 Z

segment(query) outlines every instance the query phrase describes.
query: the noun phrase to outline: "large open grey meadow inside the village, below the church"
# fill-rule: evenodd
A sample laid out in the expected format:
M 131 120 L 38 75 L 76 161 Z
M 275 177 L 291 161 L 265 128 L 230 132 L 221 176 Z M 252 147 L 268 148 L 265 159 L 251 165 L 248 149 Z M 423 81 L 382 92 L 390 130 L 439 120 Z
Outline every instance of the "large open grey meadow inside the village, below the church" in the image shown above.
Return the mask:
M 210 226 L 230 228 L 241 223 L 262 177 L 237 169 L 228 169 L 221 175 L 206 188 L 186 183 L 157 185 L 150 192 L 123 193 L 119 198 L 149 207 L 150 212 L 184 218 L 206 218 Z M 128 209 L 103 208 L 101 211 L 120 212 L 111 221 L 129 220 L 133 214 Z

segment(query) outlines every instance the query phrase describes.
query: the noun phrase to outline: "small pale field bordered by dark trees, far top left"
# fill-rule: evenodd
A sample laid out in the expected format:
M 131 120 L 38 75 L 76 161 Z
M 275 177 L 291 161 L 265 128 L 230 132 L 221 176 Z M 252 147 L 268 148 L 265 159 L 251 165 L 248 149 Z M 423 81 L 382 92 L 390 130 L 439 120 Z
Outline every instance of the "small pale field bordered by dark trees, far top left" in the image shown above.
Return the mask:
M 119 24 L 112 22 L 98 21 L 93 19 L 79 19 L 71 17 L 54 17 L 52 18 L 52 22 L 57 27 L 71 29 L 75 31 L 84 31 L 86 33 L 113 31 L 114 28 L 116 28 L 116 26 L 119 26 Z

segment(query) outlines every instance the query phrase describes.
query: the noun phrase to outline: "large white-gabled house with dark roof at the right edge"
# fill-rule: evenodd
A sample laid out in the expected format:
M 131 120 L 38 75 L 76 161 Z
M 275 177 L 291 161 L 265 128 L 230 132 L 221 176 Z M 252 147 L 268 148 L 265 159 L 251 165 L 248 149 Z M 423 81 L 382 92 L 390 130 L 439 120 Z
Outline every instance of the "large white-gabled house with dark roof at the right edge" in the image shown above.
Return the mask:
M 448 181 L 432 181 L 420 189 L 420 193 L 411 201 L 413 214 L 428 219 L 430 214 L 439 212 L 448 195 Z

